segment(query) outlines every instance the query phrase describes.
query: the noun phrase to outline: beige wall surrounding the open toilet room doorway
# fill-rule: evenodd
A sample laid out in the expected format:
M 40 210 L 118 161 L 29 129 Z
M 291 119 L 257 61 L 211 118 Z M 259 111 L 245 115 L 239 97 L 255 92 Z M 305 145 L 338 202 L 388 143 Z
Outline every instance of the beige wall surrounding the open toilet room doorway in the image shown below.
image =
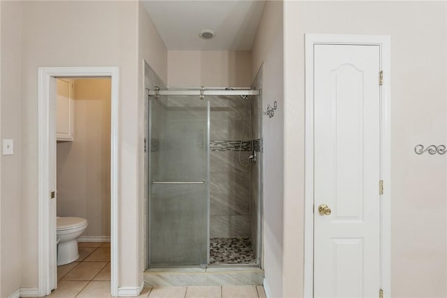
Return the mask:
M 119 287 L 139 285 L 138 266 L 138 3 L 22 3 L 22 246 L 23 288 L 37 286 L 37 69 L 118 66 Z M 1 26 L 3 28 L 3 24 Z M 134 256 L 134 257 L 133 257 Z

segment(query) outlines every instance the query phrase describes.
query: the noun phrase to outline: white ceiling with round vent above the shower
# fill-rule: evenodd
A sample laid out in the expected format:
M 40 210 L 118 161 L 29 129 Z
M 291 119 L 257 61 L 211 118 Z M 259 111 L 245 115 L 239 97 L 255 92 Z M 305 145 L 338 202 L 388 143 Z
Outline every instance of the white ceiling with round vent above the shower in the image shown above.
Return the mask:
M 251 50 L 265 1 L 142 1 L 168 50 Z M 203 39 L 203 29 L 214 38 Z

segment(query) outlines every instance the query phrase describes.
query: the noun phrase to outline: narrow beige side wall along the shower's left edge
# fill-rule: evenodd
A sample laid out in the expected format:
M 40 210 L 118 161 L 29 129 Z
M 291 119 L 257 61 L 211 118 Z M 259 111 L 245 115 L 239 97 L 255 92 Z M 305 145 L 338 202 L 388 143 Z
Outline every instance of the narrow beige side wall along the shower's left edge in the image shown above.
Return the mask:
M 143 60 L 152 67 L 156 74 L 163 80 L 164 83 L 168 80 L 168 50 L 163 43 L 159 32 L 156 31 L 156 27 L 152 22 L 149 14 L 143 7 L 142 3 L 138 5 L 138 148 L 144 146 L 145 136 L 145 67 Z M 143 181 L 145 179 L 144 166 L 145 155 L 143 150 L 139 151 L 138 160 L 140 164 L 139 179 Z M 146 231 L 146 212 L 147 212 L 147 199 L 145 198 L 145 183 L 141 183 L 139 187 L 139 200 L 138 200 L 138 271 L 141 273 L 145 271 L 145 253 L 147 252 L 147 242 L 145 239 Z M 142 274 L 140 274 L 139 282 L 142 282 Z

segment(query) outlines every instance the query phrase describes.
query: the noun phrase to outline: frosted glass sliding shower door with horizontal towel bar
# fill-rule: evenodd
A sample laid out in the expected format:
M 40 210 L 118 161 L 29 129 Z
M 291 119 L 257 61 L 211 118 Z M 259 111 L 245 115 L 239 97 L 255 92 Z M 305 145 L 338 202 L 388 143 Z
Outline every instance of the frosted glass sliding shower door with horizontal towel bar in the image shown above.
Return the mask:
M 205 265 L 209 101 L 149 99 L 149 267 Z

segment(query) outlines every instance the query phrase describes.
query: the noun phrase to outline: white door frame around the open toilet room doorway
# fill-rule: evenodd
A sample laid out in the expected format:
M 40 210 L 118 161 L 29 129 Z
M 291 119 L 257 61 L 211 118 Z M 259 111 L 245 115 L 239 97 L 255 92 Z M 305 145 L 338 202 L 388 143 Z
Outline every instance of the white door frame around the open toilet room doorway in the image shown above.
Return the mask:
M 56 164 L 56 96 L 57 77 L 110 78 L 110 266 L 111 295 L 118 295 L 118 67 L 39 67 L 38 68 L 38 295 L 49 295 L 57 284 L 56 211 L 50 199 L 51 165 Z M 54 132 L 54 134 L 52 134 Z M 54 177 L 55 180 L 55 177 Z M 54 186 L 55 188 L 55 186 Z M 54 242 L 54 243 L 53 243 Z

